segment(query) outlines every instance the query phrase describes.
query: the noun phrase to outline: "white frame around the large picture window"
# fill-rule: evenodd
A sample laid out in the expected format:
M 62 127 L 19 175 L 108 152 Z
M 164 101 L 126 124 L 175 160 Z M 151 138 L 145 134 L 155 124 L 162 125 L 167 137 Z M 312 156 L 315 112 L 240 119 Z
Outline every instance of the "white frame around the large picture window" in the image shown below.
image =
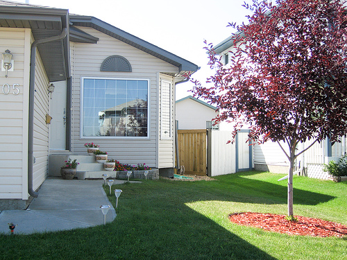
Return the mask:
M 84 91 L 84 80 L 92 79 L 92 80 L 146 80 L 147 81 L 147 99 L 148 99 L 148 107 L 147 107 L 147 136 L 146 137 L 85 137 L 83 136 L 83 91 Z M 151 97 L 150 97 L 150 89 L 151 89 L 151 80 L 149 78 L 105 78 L 105 77 L 81 77 L 81 92 L 80 92 L 80 138 L 81 139 L 150 139 L 151 138 Z

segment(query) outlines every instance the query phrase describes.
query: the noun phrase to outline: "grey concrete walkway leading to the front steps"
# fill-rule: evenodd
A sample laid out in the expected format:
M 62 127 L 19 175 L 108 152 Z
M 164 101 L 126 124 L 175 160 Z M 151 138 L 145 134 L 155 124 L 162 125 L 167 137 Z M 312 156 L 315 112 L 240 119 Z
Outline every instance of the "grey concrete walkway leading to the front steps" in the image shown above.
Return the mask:
M 115 180 L 114 184 L 124 181 Z M 47 178 L 26 210 L 0 212 L 0 233 L 10 234 L 8 223 L 18 225 L 15 234 L 32 234 L 103 225 L 101 205 L 110 205 L 106 221 L 117 216 L 102 188 L 103 180 Z

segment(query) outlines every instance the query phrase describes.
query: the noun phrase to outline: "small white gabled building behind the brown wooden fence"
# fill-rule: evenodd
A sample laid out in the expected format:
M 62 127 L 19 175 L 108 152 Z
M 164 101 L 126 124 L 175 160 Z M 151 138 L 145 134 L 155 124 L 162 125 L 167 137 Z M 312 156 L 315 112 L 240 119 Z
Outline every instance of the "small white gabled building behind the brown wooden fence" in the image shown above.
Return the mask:
M 176 120 L 180 130 L 218 129 L 218 125 L 213 125 L 212 122 L 218 114 L 216 107 L 193 96 L 176 101 Z

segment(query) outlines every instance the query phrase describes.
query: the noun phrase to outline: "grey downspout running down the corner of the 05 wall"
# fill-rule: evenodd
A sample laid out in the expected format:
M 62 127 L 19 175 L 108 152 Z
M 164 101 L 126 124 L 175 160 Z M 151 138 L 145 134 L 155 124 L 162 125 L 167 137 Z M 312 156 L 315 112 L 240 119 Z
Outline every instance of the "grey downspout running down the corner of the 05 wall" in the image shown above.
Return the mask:
M 34 142 L 34 101 L 35 101 L 35 60 L 36 60 L 36 47 L 39 44 L 46 42 L 53 42 L 62 40 L 67 36 L 67 28 L 62 28 L 62 33 L 53 37 L 35 40 L 31 44 L 31 58 L 30 58 L 30 81 L 29 81 L 29 114 L 28 114 L 28 193 L 37 198 L 39 195 L 33 190 L 33 142 Z

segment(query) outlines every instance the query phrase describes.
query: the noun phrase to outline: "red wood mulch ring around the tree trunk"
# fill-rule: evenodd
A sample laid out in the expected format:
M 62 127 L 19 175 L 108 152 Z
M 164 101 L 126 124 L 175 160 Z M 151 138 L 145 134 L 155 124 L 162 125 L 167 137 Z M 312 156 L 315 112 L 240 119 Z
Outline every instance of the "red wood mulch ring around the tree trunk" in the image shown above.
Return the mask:
M 229 215 L 232 223 L 248 227 L 260 227 L 267 231 L 299 236 L 345 236 L 347 226 L 339 223 L 295 216 L 298 221 L 289 221 L 285 215 L 263 214 L 253 212 L 234 213 Z

